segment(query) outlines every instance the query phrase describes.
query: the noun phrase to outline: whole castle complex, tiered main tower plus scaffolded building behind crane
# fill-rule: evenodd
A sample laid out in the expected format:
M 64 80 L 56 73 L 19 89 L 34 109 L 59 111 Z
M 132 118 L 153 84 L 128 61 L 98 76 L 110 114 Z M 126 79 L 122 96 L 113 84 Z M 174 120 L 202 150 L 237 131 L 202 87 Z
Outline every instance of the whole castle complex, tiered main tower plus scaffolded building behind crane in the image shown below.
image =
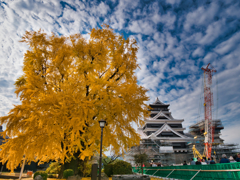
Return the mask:
M 182 164 L 190 162 L 193 157 L 192 146 L 203 154 L 205 121 L 199 121 L 189 127 L 189 132 L 184 133 L 182 122 L 184 119 L 175 119 L 169 111 L 170 104 L 161 102 L 158 98 L 152 104 L 150 117 L 144 119 L 144 126 L 137 129 L 141 136 L 140 146 L 132 147 L 124 157 L 125 161 L 135 164 L 133 155 L 146 153 L 149 163 L 162 165 Z M 239 151 L 238 144 L 224 144 L 220 138 L 224 129 L 221 120 L 213 120 L 214 143 L 213 156 L 219 159 L 222 154 L 233 156 Z M 195 139 L 194 139 L 195 137 Z

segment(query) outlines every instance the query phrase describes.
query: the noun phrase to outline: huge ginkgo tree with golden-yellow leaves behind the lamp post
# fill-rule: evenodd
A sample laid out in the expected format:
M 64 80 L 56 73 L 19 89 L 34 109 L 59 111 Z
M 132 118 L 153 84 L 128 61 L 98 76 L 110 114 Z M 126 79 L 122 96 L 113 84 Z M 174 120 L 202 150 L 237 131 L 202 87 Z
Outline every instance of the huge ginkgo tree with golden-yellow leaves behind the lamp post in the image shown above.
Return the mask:
M 9 136 L 0 147 L 2 163 L 14 169 L 23 156 L 62 164 L 89 158 L 99 152 L 101 119 L 107 122 L 104 147 L 118 153 L 139 143 L 131 123 L 143 124 L 148 97 L 134 74 L 136 40 L 104 25 L 88 40 L 39 30 L 26 31 L 22 42 L 29 50 L 15 82 L 21 104 L 0 118 Z

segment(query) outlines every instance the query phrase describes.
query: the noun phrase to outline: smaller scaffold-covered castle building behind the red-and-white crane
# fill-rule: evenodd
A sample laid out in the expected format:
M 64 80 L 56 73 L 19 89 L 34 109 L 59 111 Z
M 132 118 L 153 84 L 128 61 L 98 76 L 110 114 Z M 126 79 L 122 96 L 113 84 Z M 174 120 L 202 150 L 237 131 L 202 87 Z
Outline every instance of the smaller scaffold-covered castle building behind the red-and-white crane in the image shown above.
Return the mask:
M 220 119 L 213 120 L 214 127 L 214 141 L 212 146 L 212 155 L 217 161 L 222 157 L 222 154 L 226 154 L 227 157 L 236 155 L 239 152 L 238 144 L 225 144 L 224 140 L 220 138 L 221 130 L 224 129 Z M 204 132 L 205 132 L 205 121 L 199 121 L 189 127 L 188 136 L 195 137 L 193 141 L 188 143 L 189 154 L 193 154 L 192 146 L 195 145 L 197 150 L 203 154 L 204 153 Z

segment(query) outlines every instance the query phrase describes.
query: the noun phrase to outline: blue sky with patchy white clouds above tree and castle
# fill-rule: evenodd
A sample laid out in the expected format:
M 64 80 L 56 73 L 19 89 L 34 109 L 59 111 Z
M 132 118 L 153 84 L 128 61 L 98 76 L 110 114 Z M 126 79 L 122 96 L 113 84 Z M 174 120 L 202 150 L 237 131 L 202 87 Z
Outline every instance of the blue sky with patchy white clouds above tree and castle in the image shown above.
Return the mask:
M 22 74 L 26 30 L 69 35 L 103 23 L 139 46 L 136 76 L 156 97 L 170 103 L 187 128 L 203 118 L 202 66 L 211 63 L 213 118 L 225 126 L 225 142 L 240 143 L 240 1 L 238 0 L 109 0 L 0 1 L 0 116 L 13 104 L 14 81 Z

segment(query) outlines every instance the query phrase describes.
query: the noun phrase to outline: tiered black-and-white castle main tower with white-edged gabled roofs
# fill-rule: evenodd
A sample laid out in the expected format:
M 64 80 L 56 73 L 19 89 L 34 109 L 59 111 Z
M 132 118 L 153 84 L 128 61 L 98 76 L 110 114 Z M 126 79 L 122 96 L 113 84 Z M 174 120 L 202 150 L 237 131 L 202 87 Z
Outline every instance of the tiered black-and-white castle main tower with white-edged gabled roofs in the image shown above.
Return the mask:
M 192 138 L 183 132 L 184 119 L 173 118 L 169 111 L 170 104 L 165 104 L 158 98 L 149 106 L 150 117 L 145 119 L 145 125 L 138 128 L 137 132 L 141 136 L 142 146 L 149 149 L 147 154 L 151 161 L 165 165 L 187 161 L 187 142 Z

